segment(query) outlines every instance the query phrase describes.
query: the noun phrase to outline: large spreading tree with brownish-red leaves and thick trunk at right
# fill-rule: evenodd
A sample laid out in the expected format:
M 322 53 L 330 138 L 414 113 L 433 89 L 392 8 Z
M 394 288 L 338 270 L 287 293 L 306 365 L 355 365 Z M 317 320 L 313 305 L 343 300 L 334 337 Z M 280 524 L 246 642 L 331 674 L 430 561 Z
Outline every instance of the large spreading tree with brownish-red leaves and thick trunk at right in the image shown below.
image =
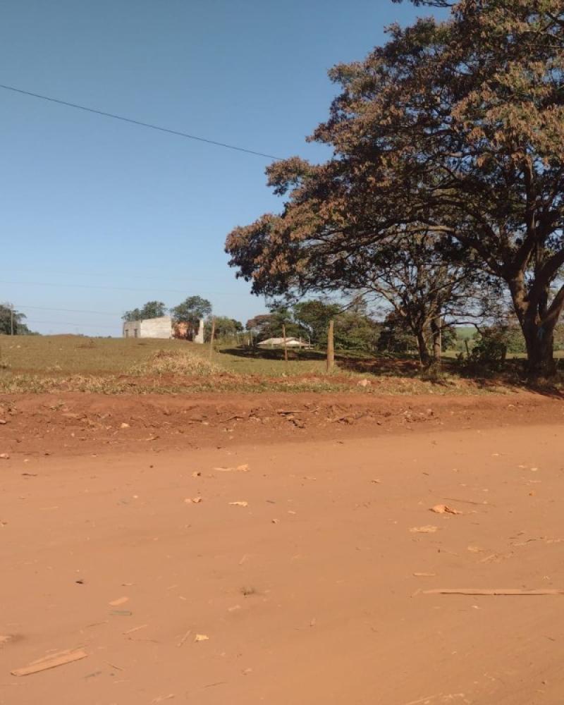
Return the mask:
M 283 214 L 236 228 L 231 264 L 257 292 L 309 286 L 312 262 L 342 285 L 351 263 L 373 271 L 382 247 L 429 233 L 446 262 L 454 245 L 506 283 L 529 369 L 551 372 L 564 306 L 562 0 L 419 4 L 453 11 L 394 26 L 384 47 L 331 71 L 341 94 L 312 139 L 333 158 L 269 168 Z

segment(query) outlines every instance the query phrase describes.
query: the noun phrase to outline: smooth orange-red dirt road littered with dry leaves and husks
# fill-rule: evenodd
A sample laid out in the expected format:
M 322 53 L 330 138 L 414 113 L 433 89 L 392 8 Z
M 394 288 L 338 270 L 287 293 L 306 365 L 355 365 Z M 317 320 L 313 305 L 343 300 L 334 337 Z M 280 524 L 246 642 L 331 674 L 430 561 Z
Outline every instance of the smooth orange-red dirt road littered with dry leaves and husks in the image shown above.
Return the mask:
M 1 705 L 561 703 L 561 422 L 335 436 L 0 460 Z

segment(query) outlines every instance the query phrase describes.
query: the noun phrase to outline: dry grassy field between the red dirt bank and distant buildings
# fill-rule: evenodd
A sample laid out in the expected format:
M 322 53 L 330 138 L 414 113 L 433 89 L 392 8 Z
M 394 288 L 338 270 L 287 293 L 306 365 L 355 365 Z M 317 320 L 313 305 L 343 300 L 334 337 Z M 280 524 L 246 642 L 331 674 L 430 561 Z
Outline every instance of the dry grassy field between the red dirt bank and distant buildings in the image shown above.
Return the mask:
M 522 366 L 468 379 L 455 353 L 443 373 L 422 373 L 414 357 L 337 353 L 326 373 L 324 353 L 219 347 L 186 341 L 0 336 L 0 391 L 190 393 L 195 391 L 366 391 L 391 394 L 484 393 L 522 386 Z M 485 375 L 484 375 L 485 376 Z

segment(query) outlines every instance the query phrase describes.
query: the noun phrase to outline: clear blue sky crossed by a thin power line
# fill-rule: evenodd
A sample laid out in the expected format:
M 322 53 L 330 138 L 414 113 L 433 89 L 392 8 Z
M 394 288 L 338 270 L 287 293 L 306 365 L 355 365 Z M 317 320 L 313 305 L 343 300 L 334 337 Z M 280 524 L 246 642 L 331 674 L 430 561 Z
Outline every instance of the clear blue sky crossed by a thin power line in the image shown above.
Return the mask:
M 276 157 L 305 136 L 391 0 L 4 0 L 0 82 Z M 226 234 L 280 207 L 269 160 L 0 90 L 0 301 L 42 333 L 119 335 L 125 309 L 188 295 L 245 322 Z M 66 310 L 63 310 L 66 309 Z

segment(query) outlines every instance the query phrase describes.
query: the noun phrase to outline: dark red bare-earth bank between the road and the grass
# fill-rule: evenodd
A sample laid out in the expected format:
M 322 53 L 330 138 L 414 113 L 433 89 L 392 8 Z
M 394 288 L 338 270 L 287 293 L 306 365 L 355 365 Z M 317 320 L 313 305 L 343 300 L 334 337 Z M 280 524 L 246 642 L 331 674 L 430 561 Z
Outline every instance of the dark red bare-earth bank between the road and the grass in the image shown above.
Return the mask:
M 362 393 L 18 394 L 0 397 L 0 453 L 100 453 L 561 422 L 560 398 Z M 1 422 L 5 423 L 1 423 Z

